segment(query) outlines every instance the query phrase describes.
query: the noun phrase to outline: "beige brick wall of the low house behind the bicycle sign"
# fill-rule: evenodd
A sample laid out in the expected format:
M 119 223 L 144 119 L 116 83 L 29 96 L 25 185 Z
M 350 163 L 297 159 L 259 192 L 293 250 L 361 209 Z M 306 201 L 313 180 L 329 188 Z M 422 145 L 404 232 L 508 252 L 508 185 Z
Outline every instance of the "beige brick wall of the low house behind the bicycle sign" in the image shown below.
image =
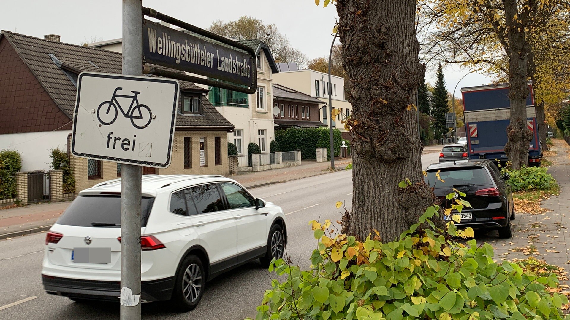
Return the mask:
M 192 137 L 192 168 L 184 169 L 184 137 Z M 200 167 L 200 138 L 206 138 L 206 166 Z M 215 165 L 215 137 L 221 137 L 222 164 Z M 101 178 L 87 179 L 87 159 L 71 155 L 70 165 L 74 170 L 75 192 L 95 186 L 95 184 L 116 179 L 117 163 L 101 161 Z M 227 158 L 227 132 L 225 131 L 176 131 L 170 166 L 156 169 L 157 174 L 221 174 L 229 175 Z

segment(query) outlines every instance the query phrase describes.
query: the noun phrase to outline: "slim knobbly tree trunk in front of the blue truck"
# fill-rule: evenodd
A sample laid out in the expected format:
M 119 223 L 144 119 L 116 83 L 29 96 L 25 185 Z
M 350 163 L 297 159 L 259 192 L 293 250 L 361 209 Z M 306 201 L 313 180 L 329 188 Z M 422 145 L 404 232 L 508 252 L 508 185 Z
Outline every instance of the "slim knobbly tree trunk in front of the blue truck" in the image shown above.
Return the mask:
M 524 28 L 516 22 L 516 0 L 503 0 L 508 37 L 508 84 L 511 101 L 510 124 L 507 126 L 508 142 L 504 147 L 512 169 L 528 166 L 528 146 L 532 133 L 527 129 L 527 45 Z

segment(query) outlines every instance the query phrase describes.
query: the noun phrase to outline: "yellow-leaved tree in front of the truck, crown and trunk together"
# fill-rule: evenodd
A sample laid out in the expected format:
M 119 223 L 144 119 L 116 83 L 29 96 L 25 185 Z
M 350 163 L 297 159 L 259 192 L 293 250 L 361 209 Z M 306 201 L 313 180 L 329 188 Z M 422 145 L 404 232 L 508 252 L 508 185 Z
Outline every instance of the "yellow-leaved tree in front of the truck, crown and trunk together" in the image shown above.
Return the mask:
M 561 0 L 425 0 L 420 11 L 428 36 L 426 52 L 446 63 L 487 71 L 510 85 L 511 123 L 505 151 L 512 167 L 527 164 L 532 133 L 526 127 L 527 80 L 534 80 L 539 125 L 544 130 L 545 99 L 559 99 L 568 60 L 568 3 Z M 552 42 L 553 46 L 549 46 Z M 547 59 L 545 59 L 548 57 Z M 560 58 L 560 59 L 557 59 Z M 550 88 L 555 88 L 551 90 Z M 558 91 L 557 88 L 562 89 Z M 557 91 L 557 92 L 555 92 Z M 545 98 L 547 97 L 548 98 Z M 545 133 L 544 133 L 545 134 Z

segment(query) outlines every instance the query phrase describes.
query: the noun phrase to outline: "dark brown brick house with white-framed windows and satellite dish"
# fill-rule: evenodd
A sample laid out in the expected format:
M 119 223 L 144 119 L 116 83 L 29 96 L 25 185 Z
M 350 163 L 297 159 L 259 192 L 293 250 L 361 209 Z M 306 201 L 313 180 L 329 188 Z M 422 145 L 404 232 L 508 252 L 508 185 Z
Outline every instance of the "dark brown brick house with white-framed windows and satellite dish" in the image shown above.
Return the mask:
M 279 108 L 279 114 L 273 114 L 273 121 L 278 126 L 276 130 L 327 126 L 319 117 L 326 102 L 276 83 L 273 84 L 273 97 L 273 108 L 275 111 Z

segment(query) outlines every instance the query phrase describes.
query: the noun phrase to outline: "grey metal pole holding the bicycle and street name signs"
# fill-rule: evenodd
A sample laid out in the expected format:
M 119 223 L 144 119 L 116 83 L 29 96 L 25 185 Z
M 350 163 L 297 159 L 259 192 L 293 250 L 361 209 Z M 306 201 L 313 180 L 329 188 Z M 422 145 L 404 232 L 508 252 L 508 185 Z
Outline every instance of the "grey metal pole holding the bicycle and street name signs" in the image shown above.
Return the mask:
M 143 71 L 143 3 L 123 0 L 123 75 Z M 121 320 L 141 318 L 141 167 L 121 165 Z

